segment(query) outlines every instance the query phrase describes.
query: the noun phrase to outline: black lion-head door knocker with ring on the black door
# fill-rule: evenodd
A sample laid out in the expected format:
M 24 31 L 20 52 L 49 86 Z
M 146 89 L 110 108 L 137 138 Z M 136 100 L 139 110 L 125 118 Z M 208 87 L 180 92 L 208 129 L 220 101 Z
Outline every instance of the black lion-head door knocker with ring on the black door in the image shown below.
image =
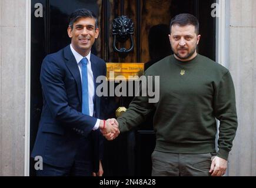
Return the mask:
M 134 34 L 134 23 L 132 19 L 129 19 L 127 16 L 118 16 L 115 18 L 112 23 L 112 34 L 114 36 L 113 39 L 113 48 L 115 52 L 125 58 L 129 52 L 134 49 L 134 39 L 132 35 Z M 116 46 L 117 41 L 120 43 L 125 43 L 128 39 L 131 41 L 131 47 L 126 49 L 124 47 L 118 49 Z

